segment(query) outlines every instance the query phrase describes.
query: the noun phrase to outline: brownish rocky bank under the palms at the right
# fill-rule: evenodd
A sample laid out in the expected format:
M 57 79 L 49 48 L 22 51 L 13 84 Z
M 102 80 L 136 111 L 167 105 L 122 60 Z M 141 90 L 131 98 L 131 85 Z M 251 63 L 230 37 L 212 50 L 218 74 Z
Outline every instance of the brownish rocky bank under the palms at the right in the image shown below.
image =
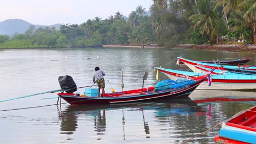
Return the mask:
M 256 54 L 256 45 L 194 45 L 194 44 L 177 44 L 176 47 L 183 47 L 194 50 L 206 50 L 206 51 L 227 51 L 227 52 L 245 52 L 249 54 Z

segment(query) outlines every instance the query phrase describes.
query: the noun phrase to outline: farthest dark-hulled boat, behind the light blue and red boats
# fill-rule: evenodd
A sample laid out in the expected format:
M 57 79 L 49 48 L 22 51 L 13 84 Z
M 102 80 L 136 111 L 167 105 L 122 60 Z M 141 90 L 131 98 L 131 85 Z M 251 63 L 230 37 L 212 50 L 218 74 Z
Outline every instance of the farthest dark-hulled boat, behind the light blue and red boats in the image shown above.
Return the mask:
M 237 64 L 245 64 L 249 61 L 251 61 L 252 58 L 241 58 L 241 59 L 234 59 L 232 61 L 197 61 L 201 63 L 211 63 L 211 64 L 223 64 L 223 65 L 237 65 Z M 177 61 L 178 59 L 175 59 Z M 185 65 L 182 61 L 179 62 L 181 65 Z

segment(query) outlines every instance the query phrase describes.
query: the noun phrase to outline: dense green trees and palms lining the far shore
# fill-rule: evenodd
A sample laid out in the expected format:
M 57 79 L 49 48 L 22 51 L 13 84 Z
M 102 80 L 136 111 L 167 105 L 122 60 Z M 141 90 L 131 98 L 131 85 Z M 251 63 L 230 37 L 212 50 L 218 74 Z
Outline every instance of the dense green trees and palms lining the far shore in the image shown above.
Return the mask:
M 154 0 L 150 15 L 140 5 L 127 19 L 117 12 L 80 25 L 31 26 L 25 34 L 0 35 L 0 47 L 98 47 L 104 44 L 193 43 L 245 41 L 256 44 L 255 0 Z

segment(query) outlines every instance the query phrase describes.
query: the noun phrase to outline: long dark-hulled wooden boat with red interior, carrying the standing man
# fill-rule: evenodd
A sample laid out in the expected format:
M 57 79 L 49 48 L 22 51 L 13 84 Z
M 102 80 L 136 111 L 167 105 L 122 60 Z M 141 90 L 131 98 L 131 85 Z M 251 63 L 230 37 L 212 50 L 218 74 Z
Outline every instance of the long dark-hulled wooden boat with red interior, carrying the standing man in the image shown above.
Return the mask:
M 148 88 L 132 89 L 129 91 L 106 93 L 105 97 L 88 97 L 78 96 L 74 93 L 58 93 L 60 98 L 66 100 L 71 105 L 80 104 L 115 104 L 128 103 L 143 100 L 152 100 L 160 98 L 177 98 L 184 95 L 189 95 L 194 89 L 200 85 L 208 77 L 208 74 L 195 77 L 193 82 L 184 82 L 182 87 L 165 89 L 162 91 L 155 91 L 155 86 Z M 182 82 L 181 82 L 182 83 Z M 177 83 L 177 84 L 181 84 Z M 176 84 L 176 85 L 177 85 Z M 102 95 L 102 94 L 101 94 Z

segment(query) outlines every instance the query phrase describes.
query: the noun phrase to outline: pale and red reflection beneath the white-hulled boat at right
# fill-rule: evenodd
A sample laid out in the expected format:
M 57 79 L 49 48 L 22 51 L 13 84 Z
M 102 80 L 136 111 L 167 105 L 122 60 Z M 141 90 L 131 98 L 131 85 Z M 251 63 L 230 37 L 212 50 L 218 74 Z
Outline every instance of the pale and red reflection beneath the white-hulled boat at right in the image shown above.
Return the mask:
M 195 90 L 189 95 L 195 103 L 218 103 L 247 101 L 256 104 L 256 92 L 221 91 L 221 90 Z

